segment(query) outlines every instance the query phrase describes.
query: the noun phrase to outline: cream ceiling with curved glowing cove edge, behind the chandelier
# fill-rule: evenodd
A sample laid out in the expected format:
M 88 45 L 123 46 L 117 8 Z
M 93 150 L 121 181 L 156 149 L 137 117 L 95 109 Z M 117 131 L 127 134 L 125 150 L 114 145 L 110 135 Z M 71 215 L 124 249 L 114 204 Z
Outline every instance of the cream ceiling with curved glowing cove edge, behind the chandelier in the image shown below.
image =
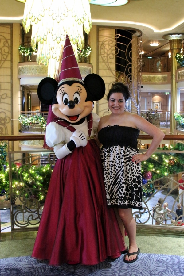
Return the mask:
M 16 0 L 2 1 L 0 23 L 22 23 L 24 5 Z M 90 4 L 92 24 L 139 29 L 143 33 L 146 56 L 159 56 L 169 51 L 169 43 L 162 36 L 184 33 L 183 0 L 128 0 L 124 6 Z M 152 41 L 159 46 L 151 47 Z M 144 56 L 143 55 L 143 56 Z

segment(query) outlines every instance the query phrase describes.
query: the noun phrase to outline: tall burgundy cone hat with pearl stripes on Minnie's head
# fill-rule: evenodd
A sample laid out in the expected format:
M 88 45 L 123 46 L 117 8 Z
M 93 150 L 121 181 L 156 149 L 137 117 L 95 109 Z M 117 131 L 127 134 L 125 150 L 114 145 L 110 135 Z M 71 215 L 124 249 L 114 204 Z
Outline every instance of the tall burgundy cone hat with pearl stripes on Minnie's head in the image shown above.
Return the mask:
M 72 45 L 70 43 L 69 36 L 66 35 L 58 86 L 62 82 L 67 82 L 70 80 L 84 83 L 82 80 L 81 74 L 80 74 L 80 70 L 79 70 L 79 67 L 78 67 L 78 64 L 76 61 L 76 57 L 73 52 Z

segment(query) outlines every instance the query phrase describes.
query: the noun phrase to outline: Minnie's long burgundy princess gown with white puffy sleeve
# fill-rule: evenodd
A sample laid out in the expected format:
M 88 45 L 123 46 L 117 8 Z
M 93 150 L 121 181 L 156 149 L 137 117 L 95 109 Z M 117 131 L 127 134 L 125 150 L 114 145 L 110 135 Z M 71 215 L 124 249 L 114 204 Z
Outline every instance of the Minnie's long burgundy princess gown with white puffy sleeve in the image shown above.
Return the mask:
M 55 118 L 46 128 L 49 146 L 70 141 L 80 128 L 85 147 L 58 159 L 38 229 L 32 257 L 62 263 L 95 265 L 125 249 L 114 210 L 108 209 L 100 149 L 93 139 L 92 114 L 80 125 Z M 97 124 L 96 124 L 97 126 Z

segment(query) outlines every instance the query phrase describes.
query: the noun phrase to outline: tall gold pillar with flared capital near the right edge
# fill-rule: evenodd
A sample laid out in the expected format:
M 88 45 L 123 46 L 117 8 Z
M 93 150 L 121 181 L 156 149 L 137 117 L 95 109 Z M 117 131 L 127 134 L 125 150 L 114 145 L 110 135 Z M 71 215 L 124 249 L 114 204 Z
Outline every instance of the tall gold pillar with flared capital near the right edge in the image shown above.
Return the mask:
M 163 36 L 164 39 L 170 42 L 170 52 L 171 52 L 171 106 L 170 106 L 170 133 L 174 134 L 174 129 L 176 128 L 176 122 L 174 119 L 174 113 L 177 111 L 178 106 L 178 93 L 177 93 L 177 83 L 176 83 L 176 69 L 177 61 L 175 56 L 182 48 L 182 40 L 184 39 L 184 34 L 166 34 Z

